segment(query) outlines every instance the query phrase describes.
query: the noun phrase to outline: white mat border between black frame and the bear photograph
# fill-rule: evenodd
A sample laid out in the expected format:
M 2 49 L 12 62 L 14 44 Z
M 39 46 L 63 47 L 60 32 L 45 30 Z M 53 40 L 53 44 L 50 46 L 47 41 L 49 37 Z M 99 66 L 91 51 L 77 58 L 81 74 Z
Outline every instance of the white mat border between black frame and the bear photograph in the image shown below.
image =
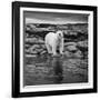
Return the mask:
M 23 11 L 46 11 L 46 12 L 72 12 L 89 14 L 89 71 L 88 83 L 63 83 L 63 84 L 42 84 L 23 87 Z M 42 9 L 20 7 L 20 92 L 38 92 L 51 90 L 76 90 L 93 88 L 93 11 L 86 10 L 61 10 L 61 9 Z

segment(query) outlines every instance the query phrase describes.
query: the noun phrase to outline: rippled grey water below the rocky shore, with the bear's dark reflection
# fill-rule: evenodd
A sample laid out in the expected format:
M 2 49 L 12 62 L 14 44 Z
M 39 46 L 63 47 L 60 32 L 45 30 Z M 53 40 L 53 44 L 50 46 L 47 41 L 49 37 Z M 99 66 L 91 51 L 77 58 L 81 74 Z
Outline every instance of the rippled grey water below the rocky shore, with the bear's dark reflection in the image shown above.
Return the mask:
M 88 60 L 67 57 L 26 57 L 24 86 L 88 82 Z

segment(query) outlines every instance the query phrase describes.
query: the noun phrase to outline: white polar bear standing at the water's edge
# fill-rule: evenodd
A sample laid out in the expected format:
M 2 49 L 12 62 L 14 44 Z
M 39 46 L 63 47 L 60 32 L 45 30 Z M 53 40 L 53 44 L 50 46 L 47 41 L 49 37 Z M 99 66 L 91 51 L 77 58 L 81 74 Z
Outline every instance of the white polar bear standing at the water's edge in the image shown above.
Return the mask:
M 59 50 L 60 54 L 63 54 L 63 33 L 62 31 L 49 32 L 46 34 L 44 38 L 46 47 L 48 53 L 52 53 L 57 56 L 57 49 Z

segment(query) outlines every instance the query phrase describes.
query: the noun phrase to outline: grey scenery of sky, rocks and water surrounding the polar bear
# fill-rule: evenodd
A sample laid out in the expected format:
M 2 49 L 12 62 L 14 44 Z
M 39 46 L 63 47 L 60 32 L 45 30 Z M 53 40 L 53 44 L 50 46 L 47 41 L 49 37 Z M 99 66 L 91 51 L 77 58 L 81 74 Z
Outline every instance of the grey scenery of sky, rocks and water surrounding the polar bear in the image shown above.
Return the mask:
M 88 16 L 34 14 L 33 17 L 33 12 L 24 13 L 23 86 L 88 82 Z M 47 21 L 42 21 L 43 17 Z M 56 22 L 49 17 L 56 19 Z M 28 21 L 27 18 L 33 20 Z M 34 21 L 34 18 L 39 21 Z M 73 22 L 63 20 L 64 22 L 60 23 L 61 19 Z M 57 30 L 63 31 L 64 50 L 63 56 L 58 52 L 58 57 L 52 57 L 48 54 L 44 37 Z

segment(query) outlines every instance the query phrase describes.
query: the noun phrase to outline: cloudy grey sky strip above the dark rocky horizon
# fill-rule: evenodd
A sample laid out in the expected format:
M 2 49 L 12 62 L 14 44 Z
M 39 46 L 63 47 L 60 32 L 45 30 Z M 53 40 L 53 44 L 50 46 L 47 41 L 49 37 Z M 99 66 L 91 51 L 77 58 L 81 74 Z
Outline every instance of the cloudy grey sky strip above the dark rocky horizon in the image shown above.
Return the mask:
M 24 11 L 26 23 L 87 23 L 88 14 Z

